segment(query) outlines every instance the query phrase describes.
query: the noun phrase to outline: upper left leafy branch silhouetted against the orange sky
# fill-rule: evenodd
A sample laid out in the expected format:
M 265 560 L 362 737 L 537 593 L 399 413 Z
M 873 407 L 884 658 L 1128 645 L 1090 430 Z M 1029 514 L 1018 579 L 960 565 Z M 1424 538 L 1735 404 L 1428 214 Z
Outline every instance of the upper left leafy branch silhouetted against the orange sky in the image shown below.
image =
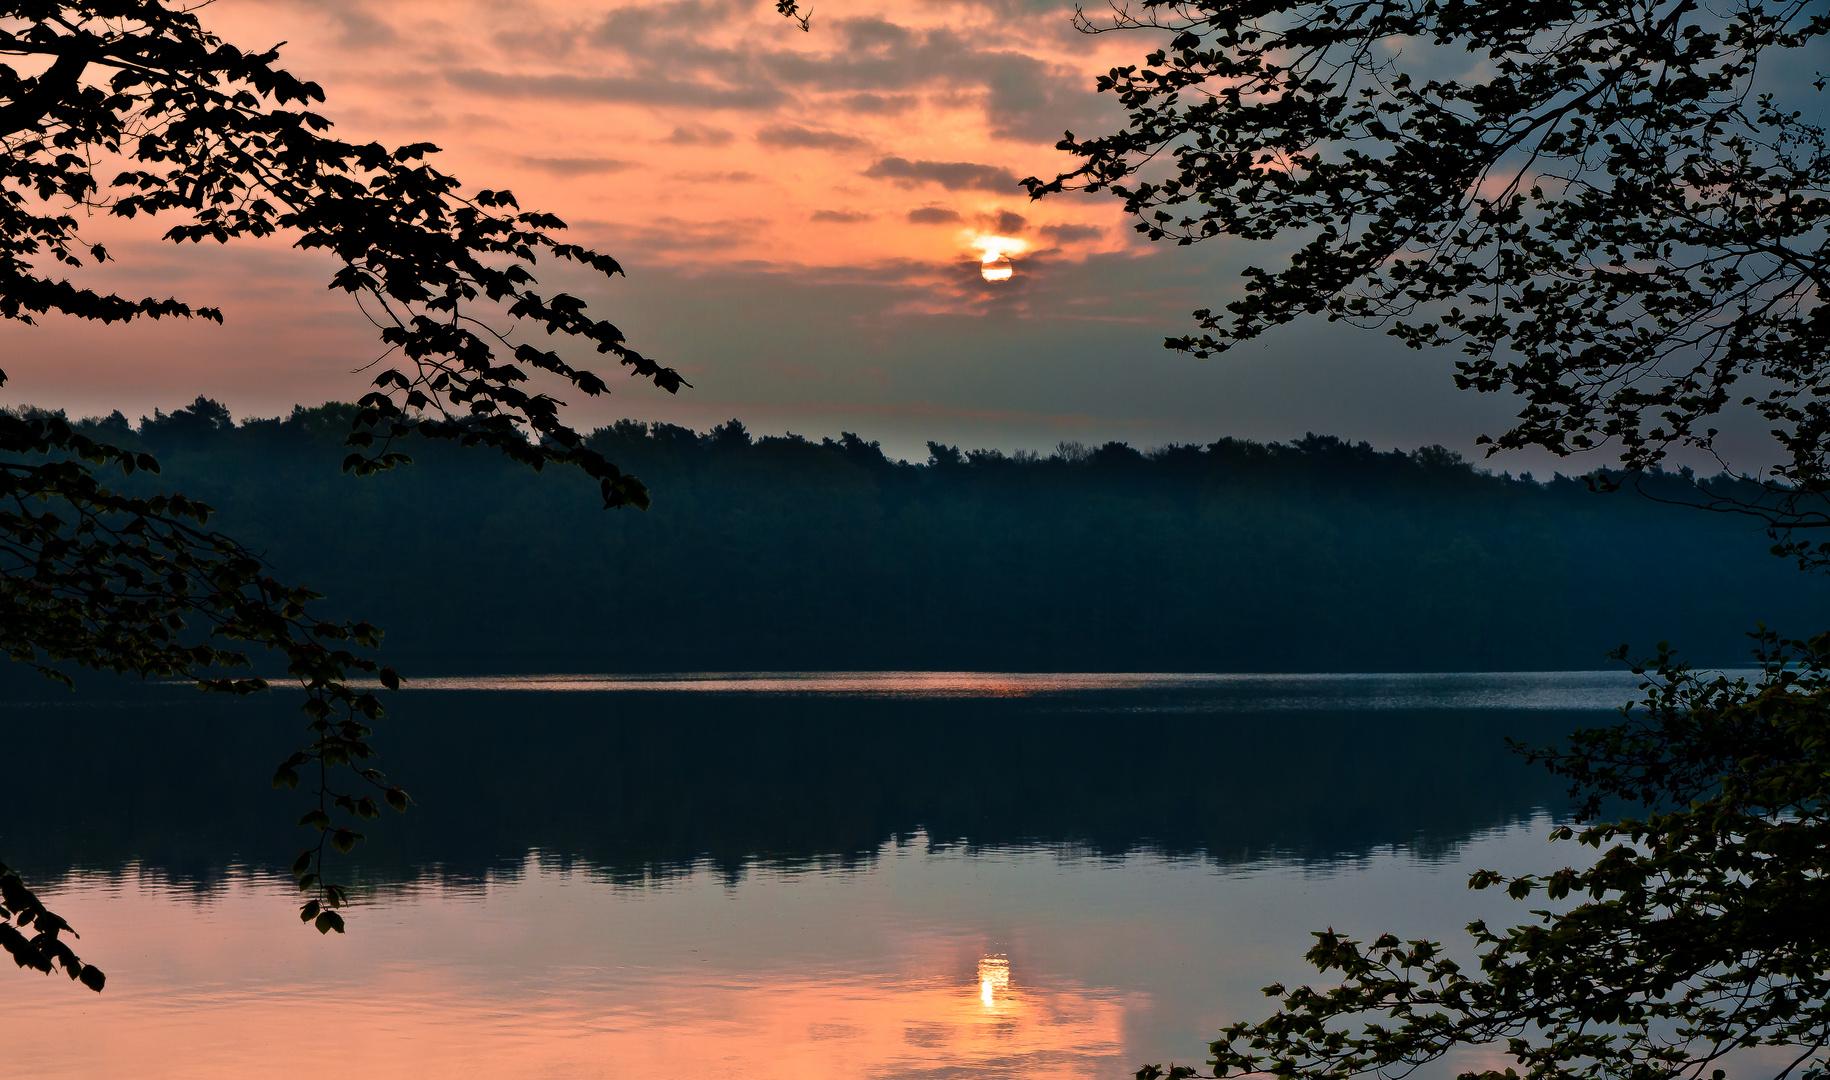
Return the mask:
M 622 273 L 608 254 L 560 240 L 560 218 L 522 211 L 507 190 L 459 194 L 456 178 L 426 163 L 432 143 L 390 150 L 329 137 L 322 115 L 287 108 L 324 101 L 318 84 L 276 68 L 276 49 L 221 42 L 185 9 L 0 4 L 4 55 L 53 62 L 37 77 L 0 64 L 0 317 L 221 320 L 214 308 L 46 276 L 35 256 L 60 267 L 112 258 L 82 242 L 64 207 L 183 216 L 165 232 L 176 243 L 293 232 L 295 247 L 337 256 L 329 287 L 357 297 L 381 326 L 384 355 L 404 359 L 362 397 L 346 469 L 404 463 L 388 441 L 417 432 L 494 447 L 534 469 L 569 465 L 598 481 L 606 507 L 648 505 L 637 478 L 560 419 L 560 399 L 523 386 L 542 373 L 586 395 L 608 390 L 554 350 L 512 344 L 520 326 L 586 344 L 670 394 L 686 386 L 578 297 L 538 289 L 531 267 L 540 258 Z M 110 161 L 119 163 L 112 178 L 101 172 Z M 490 328 L 492 319 L 509 329 Z

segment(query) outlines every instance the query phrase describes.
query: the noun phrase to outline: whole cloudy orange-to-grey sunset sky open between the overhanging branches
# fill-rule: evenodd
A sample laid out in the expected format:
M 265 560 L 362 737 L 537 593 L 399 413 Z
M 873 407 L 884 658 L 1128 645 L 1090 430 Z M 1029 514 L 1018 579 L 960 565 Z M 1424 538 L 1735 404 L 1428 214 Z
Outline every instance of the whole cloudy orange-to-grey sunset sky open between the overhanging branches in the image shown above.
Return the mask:
M 1473 452 L 1504 399 L 1457 392 L 1451 355 L 1296 326 L 1210 361 L 1162 348 L 1237 295 L 1243 243 L 1149 245 L 1111 196 L 1032 203 L 1063 128 L 1120 123 L 1094 77 L 1155 42 L 1076 33 L 1056 0 L 831 0 L 811 31 L 767 0 L 216 0 L 201 16 L 328 92 L 344 139 L 436 141 L 467 190 L 512 189 L 617 256 L 626 278 L 544 275 L 679 368 L 679 397 L 609 372 L 617 417 L 807 436 L 855 430 L 1047 448 L 1303 432 Z M 176 249 L 141 223 L 86 234 L 128 295 L 223 308 L 227 326 L 0 326 L 0 401 L 73 414 L 236 416 L 353 399 L 381 350 L 331 265 L 284 242 Z M 985 282 L 988 245 L 1014 262 Z M 1565 470 L 1601 465 L 1583 461 Z M 1545 459 L 1497 458 L 1493 467 Z

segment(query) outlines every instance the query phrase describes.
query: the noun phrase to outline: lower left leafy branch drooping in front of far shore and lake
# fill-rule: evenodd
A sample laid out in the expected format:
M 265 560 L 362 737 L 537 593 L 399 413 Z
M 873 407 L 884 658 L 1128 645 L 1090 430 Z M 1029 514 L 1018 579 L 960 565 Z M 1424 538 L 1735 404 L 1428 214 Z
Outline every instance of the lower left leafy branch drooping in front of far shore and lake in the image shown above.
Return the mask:
M 317 807 L 300 824 L 317 826 L 320 837 L 295 864 L 298 888 L 311 893 L 304 917 L 320 932 L 342 930 L 337 908 L 348 893 L 326 880 L 324 848 L 348 853 L 362 835 L 333 822 L 331 811 L 366 820 L 379 807 L 368 794 L 333 789 L 333 778 L 350 772 L 393 809 L 408 804 L 404 791 L 368 765 L 375 751 L 366 721 L 382 716 L 382 707 L 351 685 L 353 675 L 373 675 L 399 688 L 392 668 L 353 652 L 375 648 L 381 632 L 311 619 L 306 606 L 320 597 L 274 580 L 260 556 L 207 531 L 210 507 L 176 494 L 128 496 L 97 480 L 97 467 L 156 472 L 146 454 L 95 441 L 57 416 L 7 412 L 0 412 L 0 454 L 7 456 L 0 461 L 0 652 L 66 685 L 73 681 L 60 664 L 73 663 L 192 679 L 201 690 L 234 696 L 269 688 L 265 677 L 236 674 L 253 666 L 242 646 L 276 653 L 304 692 L 311 741 L 280 765 L 274 787 L 296 787 L 298 769 L 317 765 Z M 48 917 L 37 915 L 35 924 L 64 926 Z M 55 934 L 40 952 L 53 943 Z M 33 956 L 15 950 L 22 967 L 40 967 Z M 71 968 L 75 956 L 66 959 L 66 970 L 81 974 Z M 93 987 L 101 988 L 101 976 Z

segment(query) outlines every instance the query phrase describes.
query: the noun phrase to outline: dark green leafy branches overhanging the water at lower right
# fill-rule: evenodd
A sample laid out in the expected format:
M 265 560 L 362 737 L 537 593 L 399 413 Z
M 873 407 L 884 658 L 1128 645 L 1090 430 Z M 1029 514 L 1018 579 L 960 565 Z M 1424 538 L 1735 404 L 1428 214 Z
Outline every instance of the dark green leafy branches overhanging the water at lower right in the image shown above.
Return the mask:
M 1506 1076 L 1534 1080 L 1823 1076 L 1830 635 L 1760 646 L 1757 679 L 1662 653 L 1636 668 L 1645 697 L 1620 725 L 1519 747 L 1579 800 L 1554 838 L 1596 855 L 1545 877 L 1477 871 L 1471 888 L 1554 904 L 1521 926 L 1469 924 L 1477 970 L 1433 941 L 1316 934 L 1308 961 L 1330 985 L 1266 987 L 1279 1010 L 1226 1027 L 1213 1075 L 1402 1076 L 1488 1045 L 1517 1065 Z M 1645 813 L 1596 822 L 1609 800 Z M 1138 1073 L 1164 1075 L 1193 1069 Z

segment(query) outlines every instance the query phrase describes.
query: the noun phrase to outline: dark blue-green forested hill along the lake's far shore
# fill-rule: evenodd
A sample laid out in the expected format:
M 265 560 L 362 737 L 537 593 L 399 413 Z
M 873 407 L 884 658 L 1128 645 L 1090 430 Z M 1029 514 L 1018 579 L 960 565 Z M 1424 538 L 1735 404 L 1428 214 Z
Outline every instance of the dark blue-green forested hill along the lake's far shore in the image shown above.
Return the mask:
M 404 447 L 339 470 L 351 408 L 232 425 L 199 399 L 93 434 L 410 672 L 1598 668 L 1621 643 L 1746 655 L 1757 621 L 1830 628 L 1830 582 L 1742 518 L 1427 447 L 1308 436 L 1050 456 L 622 421 L 591 445 L 648 513 L 565 470 Z

